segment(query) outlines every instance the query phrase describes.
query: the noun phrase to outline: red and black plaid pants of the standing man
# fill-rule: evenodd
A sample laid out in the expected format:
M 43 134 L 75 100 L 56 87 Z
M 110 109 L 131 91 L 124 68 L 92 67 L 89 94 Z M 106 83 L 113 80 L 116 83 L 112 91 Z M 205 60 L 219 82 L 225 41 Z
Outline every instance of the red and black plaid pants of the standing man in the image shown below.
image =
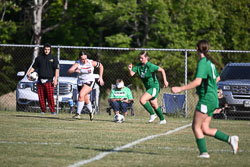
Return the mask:
M 46 112 L 46 99 L 49 104 L 51 112 L 55 112 L 55 101 L 54 101 L 54 86 L 51 82 L 48 83 L 37 83 L 39 103 L 42 112 Z

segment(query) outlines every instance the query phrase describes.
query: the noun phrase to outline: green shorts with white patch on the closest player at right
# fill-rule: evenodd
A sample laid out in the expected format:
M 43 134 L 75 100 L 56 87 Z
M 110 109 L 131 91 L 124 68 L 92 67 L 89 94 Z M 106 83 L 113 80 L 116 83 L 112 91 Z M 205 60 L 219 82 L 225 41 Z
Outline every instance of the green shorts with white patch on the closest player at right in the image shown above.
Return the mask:
M 196 109 L 201 113 L 207 114 L 208 116 L 212 116 L 214 111 L 218 108 L 218 103 L 216 101 L 210 101 L 209 103 L 204 103 L 202 100 L 199 100 L 196 105 Z

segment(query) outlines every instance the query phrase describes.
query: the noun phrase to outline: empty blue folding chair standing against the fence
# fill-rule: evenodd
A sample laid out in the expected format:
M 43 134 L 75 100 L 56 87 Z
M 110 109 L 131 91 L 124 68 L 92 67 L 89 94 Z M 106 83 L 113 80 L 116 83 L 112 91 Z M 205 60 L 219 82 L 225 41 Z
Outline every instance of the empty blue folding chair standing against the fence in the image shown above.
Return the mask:
M 162 99 L 162 112 L 166 114 L 182 113 L 185 103 L 185 94 L 164 93 Z M 184 113 L 182 113 L 184 114 Z

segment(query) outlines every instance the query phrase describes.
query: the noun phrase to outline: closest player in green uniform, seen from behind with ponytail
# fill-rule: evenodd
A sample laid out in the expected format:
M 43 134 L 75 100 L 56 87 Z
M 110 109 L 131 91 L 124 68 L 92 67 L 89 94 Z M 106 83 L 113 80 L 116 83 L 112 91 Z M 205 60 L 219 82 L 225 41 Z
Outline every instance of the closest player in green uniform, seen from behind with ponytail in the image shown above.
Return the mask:
M 238 151 L 238 136 L 228 136 L 221 131 L 210 128 L 213 112 L 218 108 L 217 82 L 220 80 L 214 64 L 208 54 L 209 43 L 201 40 L 197 43 L 197 53 L 200 56 L 195 79 L 188 85 L 172 87 L 173 93 L 196 87 L 199 101 L 196 106 L 193 118 L 192 129 L 196 138 L 196 143 L 200 151 L 199 158 L 210 158 L 207 152 L 204 135 L 212 136 L 218 140 L 229 143 L 233 148 L 233 153 Z

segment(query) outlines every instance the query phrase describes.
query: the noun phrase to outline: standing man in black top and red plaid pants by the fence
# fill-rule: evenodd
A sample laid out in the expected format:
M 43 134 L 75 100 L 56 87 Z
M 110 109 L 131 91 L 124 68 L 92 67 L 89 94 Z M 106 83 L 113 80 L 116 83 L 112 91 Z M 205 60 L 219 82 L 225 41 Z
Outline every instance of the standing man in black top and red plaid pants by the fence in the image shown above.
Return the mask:
M 51 111 L 51 114 L 56 115 L 55 101 L 54 101 L 54 87 L 57 85 L 59 76 L 59 62 L 58 59 L 51 54 L 51 45 L 44 44 L 43 54 L 35 59 L 32 68 L 28 71 L 27 76 L 30 80 L 30 73 L 37 71 L 38 73 L 38 97 L 41 107 L 41 114 L 46 112 L 46 99 Z

